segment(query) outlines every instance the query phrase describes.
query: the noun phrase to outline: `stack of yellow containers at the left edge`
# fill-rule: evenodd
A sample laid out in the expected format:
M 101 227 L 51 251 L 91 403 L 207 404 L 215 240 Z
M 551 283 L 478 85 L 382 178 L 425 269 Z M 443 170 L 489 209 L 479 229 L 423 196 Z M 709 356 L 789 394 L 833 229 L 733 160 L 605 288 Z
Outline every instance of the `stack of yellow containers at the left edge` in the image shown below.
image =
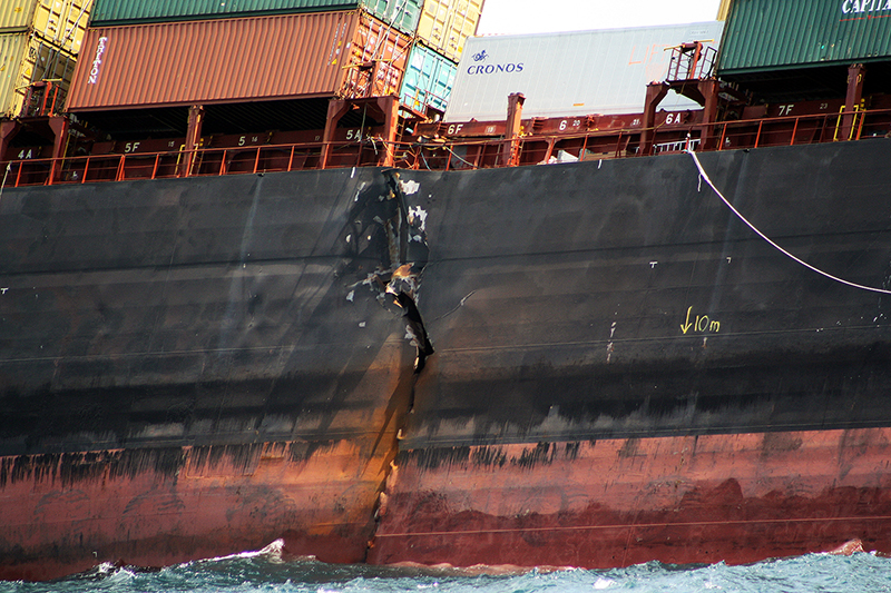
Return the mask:
M 92 0 L 0 2 L 0 118 L 38 115 L 38 89 L 46 93 L 39 107 L 59 110 L 91 4 Z M 48 83 L 33 86 L 41 81 Z M 26 105 L 29 97 L 33 105 Z

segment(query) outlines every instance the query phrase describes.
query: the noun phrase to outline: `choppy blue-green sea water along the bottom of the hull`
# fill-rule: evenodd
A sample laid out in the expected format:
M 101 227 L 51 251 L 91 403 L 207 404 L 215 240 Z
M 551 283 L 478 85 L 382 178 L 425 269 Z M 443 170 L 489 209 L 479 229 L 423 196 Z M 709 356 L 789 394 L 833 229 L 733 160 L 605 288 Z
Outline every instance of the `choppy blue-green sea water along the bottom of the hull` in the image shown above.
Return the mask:
M 850 556 L 809 554 L 745 566 L 674 566 L 649 562 L 627 569 L 589 571 L 381 567 L 283 561 L 253 552 L 189 562 L 158 571 L 101 565 L 50 583 L 0 582 L 0 593 L 882 593 L 891 592 L 891 559 L 859 552 Z

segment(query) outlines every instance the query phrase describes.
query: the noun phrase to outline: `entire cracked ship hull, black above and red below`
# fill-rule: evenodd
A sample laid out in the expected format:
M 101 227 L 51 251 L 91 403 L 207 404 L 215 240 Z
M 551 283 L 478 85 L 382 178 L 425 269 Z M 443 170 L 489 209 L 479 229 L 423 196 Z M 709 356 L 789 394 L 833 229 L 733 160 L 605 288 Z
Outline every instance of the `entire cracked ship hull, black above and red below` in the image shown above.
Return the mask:
M 0 577 L 891 552 L 889 157 L 8 189 Z

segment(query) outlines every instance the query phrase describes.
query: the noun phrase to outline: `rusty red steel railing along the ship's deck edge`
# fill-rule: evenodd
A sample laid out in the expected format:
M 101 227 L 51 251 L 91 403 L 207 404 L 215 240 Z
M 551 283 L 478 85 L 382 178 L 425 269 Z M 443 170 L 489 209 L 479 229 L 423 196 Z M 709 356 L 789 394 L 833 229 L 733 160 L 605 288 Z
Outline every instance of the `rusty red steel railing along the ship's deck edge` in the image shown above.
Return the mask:
M 320 168 L 395 166 L 408 169 L 462 170 L 510 166 L 505 145 L 519 146 L 519 165 L 624 158 L 694 149 L 727 150 L 838 141 L 845 126 L 840 113 L 786 116 L 654 128 L 652 147 L 640 146 L 642 128 L 590 131 L 571 136 L 525 136 L 515 140 L 473 139 L 361 141 L 198 148 L 25 159 L 0 164 L 6 187 L 85 184 L 133 179 L 222 176 Z M 891 110 L 856 111 L 846 137 L 891 136 Z M 646 152 L 646 154 L 645 154 Z M 324 165 L 323 165 L 324 164 Z

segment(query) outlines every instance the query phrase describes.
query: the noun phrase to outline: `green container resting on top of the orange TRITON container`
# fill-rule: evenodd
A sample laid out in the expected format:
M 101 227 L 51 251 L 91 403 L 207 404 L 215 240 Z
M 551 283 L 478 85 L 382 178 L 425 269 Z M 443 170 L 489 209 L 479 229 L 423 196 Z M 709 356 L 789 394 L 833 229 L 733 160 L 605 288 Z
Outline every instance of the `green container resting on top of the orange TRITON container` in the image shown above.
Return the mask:
M 96 0 L 90 26 L 294 14 L 363 7 L 388 24 L 413 34 L 423 0 Z

